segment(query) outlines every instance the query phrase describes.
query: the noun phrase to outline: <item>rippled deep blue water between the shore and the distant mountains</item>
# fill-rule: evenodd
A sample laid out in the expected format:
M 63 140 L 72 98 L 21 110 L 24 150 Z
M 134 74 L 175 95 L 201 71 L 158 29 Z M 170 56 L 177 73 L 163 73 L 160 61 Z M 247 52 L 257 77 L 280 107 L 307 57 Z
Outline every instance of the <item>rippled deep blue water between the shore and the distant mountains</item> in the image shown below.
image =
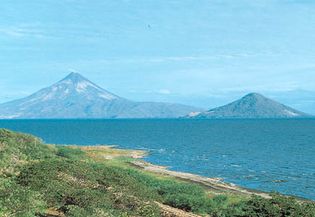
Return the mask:
M 173 170 L 315 200 L 315 120 L 1 120 L 55 144 L 115 144 Z M 283 180 L 277 182 L 276 180 Z

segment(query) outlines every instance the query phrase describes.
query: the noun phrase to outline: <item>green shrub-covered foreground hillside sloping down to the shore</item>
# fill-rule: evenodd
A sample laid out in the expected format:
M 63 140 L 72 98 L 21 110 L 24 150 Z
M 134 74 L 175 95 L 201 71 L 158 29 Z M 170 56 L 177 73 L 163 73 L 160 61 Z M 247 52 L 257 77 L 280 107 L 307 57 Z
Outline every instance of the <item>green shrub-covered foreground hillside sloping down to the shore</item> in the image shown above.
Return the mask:
M 0 129 L 0 216 L 315 216 L 312 202 L 213 190 L 133 167 L 142 154 L 45 145 Z

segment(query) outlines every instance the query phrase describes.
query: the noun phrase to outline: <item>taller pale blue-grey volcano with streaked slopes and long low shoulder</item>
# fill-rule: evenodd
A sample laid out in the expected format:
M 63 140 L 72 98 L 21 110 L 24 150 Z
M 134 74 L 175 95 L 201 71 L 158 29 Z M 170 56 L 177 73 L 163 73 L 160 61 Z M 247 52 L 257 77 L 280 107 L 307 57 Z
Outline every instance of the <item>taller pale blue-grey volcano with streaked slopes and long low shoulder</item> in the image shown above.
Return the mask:
M 176 118 L 201 109 L 181 104 L 134 102 L 71 73 L 22 99 L 0 104 L 1 119 Z

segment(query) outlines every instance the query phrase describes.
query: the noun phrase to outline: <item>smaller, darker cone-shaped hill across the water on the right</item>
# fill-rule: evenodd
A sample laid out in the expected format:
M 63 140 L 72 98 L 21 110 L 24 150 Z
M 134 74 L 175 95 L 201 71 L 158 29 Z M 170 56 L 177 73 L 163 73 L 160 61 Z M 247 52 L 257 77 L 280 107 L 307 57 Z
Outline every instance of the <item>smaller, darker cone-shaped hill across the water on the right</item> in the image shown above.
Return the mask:
M 224 106 L 206 112 L 190 113 L 188 118 L 303 118 L 310 115 L 278 103 L 259 93 L 250 93 Z

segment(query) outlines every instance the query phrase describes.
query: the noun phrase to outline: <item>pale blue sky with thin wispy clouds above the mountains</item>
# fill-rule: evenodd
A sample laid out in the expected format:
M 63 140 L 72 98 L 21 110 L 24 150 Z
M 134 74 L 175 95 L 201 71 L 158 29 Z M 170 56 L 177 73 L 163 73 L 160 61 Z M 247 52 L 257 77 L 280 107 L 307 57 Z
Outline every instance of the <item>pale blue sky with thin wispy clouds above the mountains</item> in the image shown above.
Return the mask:
M 79 72 L 137 101 L 315 114 L 315 0 L 2 0 L 0 102 Z

